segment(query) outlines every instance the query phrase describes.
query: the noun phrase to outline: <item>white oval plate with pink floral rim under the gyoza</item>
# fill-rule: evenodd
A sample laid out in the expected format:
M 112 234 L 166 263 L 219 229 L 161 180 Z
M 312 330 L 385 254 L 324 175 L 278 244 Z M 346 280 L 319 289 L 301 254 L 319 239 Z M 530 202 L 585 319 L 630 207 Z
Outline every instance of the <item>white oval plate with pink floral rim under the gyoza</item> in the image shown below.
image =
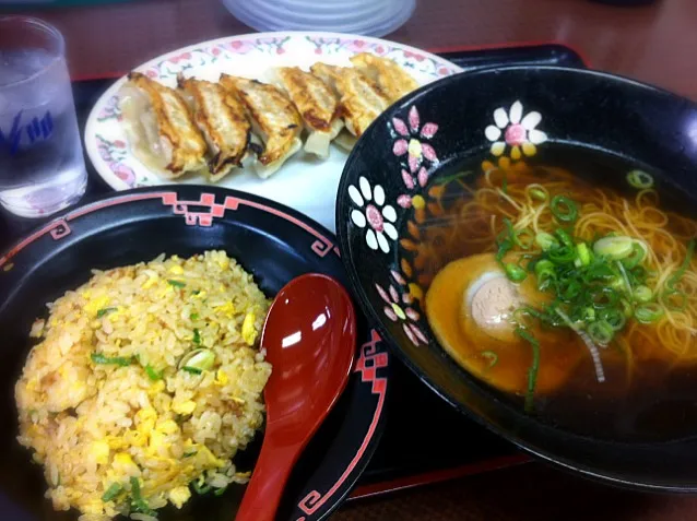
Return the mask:
M 215 81 L 222 72 L 263 79 L 280 66 L 309 68 L 316 61 L 349 66 L 358 52 L 374 52 L 393 59 L 422 84 L 460 72 L 437 56 L 404 45 L 365 36 L 336 33 L 258 33 L 232 36 L 192 45 L 155 58 L 134 70 L 174 86 L 176 76 Z M 102 178 L 115 190 L 164 185 L 167 181 L 149 170 L 129 151 L 121 125 L 118 80 L 95 104 L 85 129 L 85 147 Z M 218 186 L 243 190 L 286 204 L 334 230 L 334 204 L 339 179 L 347 154 L 332 146 L 330 157 L 318 161 L 303 152 L 290 159 L 270 179 L 239 170 Z M 206 183 L 202 175 L 189 175 L 185 183 Z

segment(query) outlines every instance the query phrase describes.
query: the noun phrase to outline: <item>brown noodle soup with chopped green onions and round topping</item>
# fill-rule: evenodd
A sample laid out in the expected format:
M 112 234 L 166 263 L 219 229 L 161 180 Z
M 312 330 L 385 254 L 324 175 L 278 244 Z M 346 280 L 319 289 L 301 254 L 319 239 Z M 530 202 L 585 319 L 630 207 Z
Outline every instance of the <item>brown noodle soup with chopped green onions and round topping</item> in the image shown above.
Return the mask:
M 557 428 L 695 435 L 697 221 L 658 176 L 598 156 L 571 163 L 434 176 L 401 252 L 433 333 Z

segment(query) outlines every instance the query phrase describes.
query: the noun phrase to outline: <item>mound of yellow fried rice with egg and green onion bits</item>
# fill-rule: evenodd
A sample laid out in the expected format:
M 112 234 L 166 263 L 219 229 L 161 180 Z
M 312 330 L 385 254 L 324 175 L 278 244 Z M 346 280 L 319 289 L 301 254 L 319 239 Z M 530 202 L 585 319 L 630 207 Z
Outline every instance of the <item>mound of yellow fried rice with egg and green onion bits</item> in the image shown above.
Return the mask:
M 50 304 L 15 396 L 54 507 L 149 520 L 245 483 L 232 459 L 263 422 L 268 307 L 222 251 L 95 271 Z

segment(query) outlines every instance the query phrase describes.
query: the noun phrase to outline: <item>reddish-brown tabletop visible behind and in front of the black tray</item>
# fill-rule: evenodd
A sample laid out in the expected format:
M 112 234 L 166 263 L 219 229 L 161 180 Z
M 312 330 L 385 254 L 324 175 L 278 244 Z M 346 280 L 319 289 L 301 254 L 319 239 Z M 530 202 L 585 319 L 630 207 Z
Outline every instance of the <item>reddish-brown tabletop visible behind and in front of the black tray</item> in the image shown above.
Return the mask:
M 252 32 L 218 0 L 139 0 L 31 14 L 56 24 L 66 35 L 73 78 L 126 71 L 177 47 Z M 588 0 L 421 0 L 414 16 L 388 37 L 433 50 L 559 42 L 582 52 L 595 69 L 697 99 L 696 23 L 695 0 L 660 0 L 646 8 L 612 8 Z M 615 490 L 530 463 L 350 504 L 332 519 L 678 521 L 696 517 L 696 498 Z

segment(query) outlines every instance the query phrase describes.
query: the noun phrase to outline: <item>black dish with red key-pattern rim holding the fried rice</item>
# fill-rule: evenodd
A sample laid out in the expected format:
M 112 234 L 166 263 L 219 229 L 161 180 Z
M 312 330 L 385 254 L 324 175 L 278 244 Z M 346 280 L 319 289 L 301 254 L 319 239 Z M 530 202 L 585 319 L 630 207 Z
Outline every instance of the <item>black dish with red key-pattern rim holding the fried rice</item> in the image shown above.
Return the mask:
M 161 253 L 190 257 L 225 250 L 253 275 L 268 297 L 293 277 L 320 272 L 346 283 L 335 239 L 291 209 L 243 192 L 203 186 L 162 186 L 111 194 L 68 211 L 0 254 L 0 519 L 74 521 L 44 499 L 43 469 L 15 439 L 14 383 L 33 342 L 32 322 L 46 304 L 85 283 L 93 269 L 130 265 Z M 363 320 L 363 319 L 361 319 Z M 305 449 L 286 487 L 277 519 L 326 519 L 368 463 L 383 428 L 389 358 L 374 331 L 359 322 L 355 368 L 346 390 Z M 236 457 L 252 470 L 258 434 Z M 234 518 L 244 486 L 221 497 L 166 507 L 162 521 Z

